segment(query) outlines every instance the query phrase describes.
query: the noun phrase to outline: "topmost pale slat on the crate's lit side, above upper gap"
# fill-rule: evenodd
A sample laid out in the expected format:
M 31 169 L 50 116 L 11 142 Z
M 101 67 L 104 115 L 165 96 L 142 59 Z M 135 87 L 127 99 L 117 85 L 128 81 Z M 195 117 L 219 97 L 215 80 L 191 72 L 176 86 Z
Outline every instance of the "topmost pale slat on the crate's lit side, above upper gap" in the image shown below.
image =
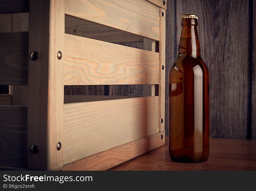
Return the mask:
M 159 40 L 159 8 L 145 0 L 65 0 L 65 13 Z

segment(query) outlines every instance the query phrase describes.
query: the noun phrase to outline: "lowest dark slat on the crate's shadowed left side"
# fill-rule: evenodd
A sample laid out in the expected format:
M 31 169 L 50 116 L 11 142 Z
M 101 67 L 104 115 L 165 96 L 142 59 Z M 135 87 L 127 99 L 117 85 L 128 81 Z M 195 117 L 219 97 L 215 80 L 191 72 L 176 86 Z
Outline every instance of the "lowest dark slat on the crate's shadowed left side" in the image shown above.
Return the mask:
M 0 106 L 0 166 L 27 167 L 26 106 Z

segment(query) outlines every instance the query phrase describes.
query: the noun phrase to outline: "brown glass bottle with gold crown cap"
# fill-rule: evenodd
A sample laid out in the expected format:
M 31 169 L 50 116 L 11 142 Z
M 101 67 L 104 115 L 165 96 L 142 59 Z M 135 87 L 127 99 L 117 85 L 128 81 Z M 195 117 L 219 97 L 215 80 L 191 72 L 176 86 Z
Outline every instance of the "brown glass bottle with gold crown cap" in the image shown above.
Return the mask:
M 182 15 L 178 56 L 169 71 L 169 154 L 176 162 L 209 158 L 209 69 L 200 56 L 196 15 Z

